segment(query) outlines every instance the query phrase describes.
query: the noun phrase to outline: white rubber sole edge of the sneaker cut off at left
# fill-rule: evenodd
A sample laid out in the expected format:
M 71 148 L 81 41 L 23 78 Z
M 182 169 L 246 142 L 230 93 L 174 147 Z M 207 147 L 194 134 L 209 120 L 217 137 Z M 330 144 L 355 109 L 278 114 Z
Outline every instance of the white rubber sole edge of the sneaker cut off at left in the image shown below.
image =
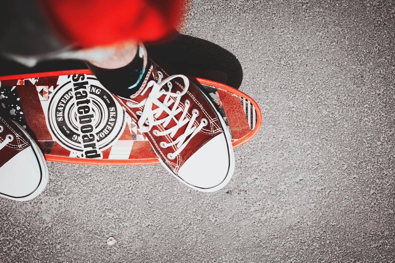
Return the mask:
M 17 122 L 14 122 L 14 123 L 21 129 L 21 131 L 24 133 L 24 135 L 26 135 L 26 137 L 30 140 L 30 144 L 32 145 L 32 150 L 33 150 L 34 154 L 36 154 L 37 161 L 40 163 L 41 180 L 40 180 L 37 188 L 33 192 L 31 192 L 28 195 L 25 195 L 23 197 L 11 197 L 9 195 L 4 195 L 1 193 L 0 193 L 0 196 L 15 200 L 15 201 L 28 201 L 28 200 L 33 199 L 34 197 L 37 197 L 41 192 L 43 192 L 43 190 L 47 186 L 48 168 L 47 168 L 47 163 L 45 162 L 45 158 L 43 156 L 43 153 L 41 152 L 40 147 L 38 147 L 36 142 L 32 139 L 32 137 L 30 137 L 30 135 L 24 130 L 24 128 L 21 127 L 21 125 L 19 125 Z

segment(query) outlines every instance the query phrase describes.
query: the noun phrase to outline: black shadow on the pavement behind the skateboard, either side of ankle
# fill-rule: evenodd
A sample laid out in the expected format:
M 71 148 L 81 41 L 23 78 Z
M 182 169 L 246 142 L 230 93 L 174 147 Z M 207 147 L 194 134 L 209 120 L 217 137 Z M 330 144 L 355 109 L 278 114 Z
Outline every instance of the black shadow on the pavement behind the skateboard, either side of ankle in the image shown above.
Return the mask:
M 175 32 L 170 40 L 147 44 L 150 57 L 170 74 L 184 74 L 226 83 L 239 88 L 243 70 L 239 60 L 226 49 L 210 41 Z M 51 60 L 29 68 L 0 58 L 0 75 L 85 69 L 81 60 Z

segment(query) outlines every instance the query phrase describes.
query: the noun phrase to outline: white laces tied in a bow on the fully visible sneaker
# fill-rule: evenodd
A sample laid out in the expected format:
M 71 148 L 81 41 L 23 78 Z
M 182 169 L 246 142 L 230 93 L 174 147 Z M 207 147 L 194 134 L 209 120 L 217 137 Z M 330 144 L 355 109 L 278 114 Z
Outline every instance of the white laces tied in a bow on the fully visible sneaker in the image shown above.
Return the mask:
M 173 153 L 167 154 L 167 158 L 170 160 L 175 159 L 175 157 L 188 145 L 189 141 L 204 127 L 208 124 L 207 119 L 202 118 L 200 121 L 200 124 L 196 127 L 194 126 L 194 122 L 196 120 L 196 117 L 199 116 L 199 111 L 197 109 L 192 109 L 192 117 L 188 119 L 186 117 L 186 114 L 188 113 L 188 109 L 190 107 L 190 101 L 185 100 L 184 102 L 184 109 L 182 109 L 180 100 L 181 97 L 186 94 L 188 87 L 189 87 L 189 79 L 184 76 L 184 75 L 173 75 L 170 77 L 167 77 L 166 79 L 162 80 L 163 78 L 163 73 L 158 71 L 159 79 L 158 82 L 156 83 L 155 81 L 151 80 L 147 84 L 147 87 L 141 92 L 141 95 L 144 95 L 147 90 L 152 87 L 152 90 L 150 91 L 150 94 L 148 97 L 141 101 L 140 103 L 133 105 L 132 103 L 128 103 L 129 107 L 142 107 L 143 111 L 137 111 L 137 114 L 140 115 L 139 121 L 138 121 L 138 126 L 139 129 L 142 132 L 148 132 L 151 130 L 151 128 L 154 125 L 159 125 L 162 124 L 164 128 L 167 127 L 167 125 L 170 123 L 171 120 L 174 120 L 176 122 L 176 125 L 164 130 L 164 131 L 158 131 L 158 130 L 153 130 L 152 133 L 155 136 L 164 136 L 164 135 L 170 135 L 171 138 L 173 138 L 177 131 L 187 124 L 186 129 L 183 134 L 181 134 L 177 139 L 175 139 L 171 143 L 166 143 L 164 141 L 160 142 L 159 145 L 162 148 L 167 148 L 169 146 L 175 145 L 177 150 Z M 172 79 L 175 78 L 182 78 L 184 81 L 184 90 L 182 92 L 171 92 L 171 89 L 173 87 L 173 84 L 171 83 Z M 164 85 L 167 85 L 169 88 L 169 91 L 166 91 L 162 89 Z M 158 100 L 161 96 L 165 95 L 164 101 Z M 175 100 L 174 100 L 175 99 Z M 158 108 L 153 109 L 153 106 L 156 105 Z M 155 118 L 159 118 L 160 115 L 162 115 L 163 112 L 167 113 L 167 116 L 162 119 L 154 120 Z M 177 114 L 181 113 L 180 118 L 177 120 L 175 117 Z M 188 137 L 189 136 L 189 137 Z M 188 138 L 188 139 L 187 139 Z

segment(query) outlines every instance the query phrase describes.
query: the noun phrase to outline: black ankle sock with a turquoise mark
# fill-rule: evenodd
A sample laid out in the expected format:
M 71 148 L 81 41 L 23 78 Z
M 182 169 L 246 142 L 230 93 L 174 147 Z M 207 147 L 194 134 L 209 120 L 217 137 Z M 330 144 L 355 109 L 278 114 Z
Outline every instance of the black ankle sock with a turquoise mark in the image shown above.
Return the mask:
M 126 66 L 115 69 L 99 68 L 86 62 L 89 70 L 98 78 L 100 83 L 111 93 L 123 98 L 129 98 L 139 90 L 143 84 L 147 71 L 151 66 L 149 59 L 144 67 L 144 57 L 140 57 L 137 51 L 136 56 Z

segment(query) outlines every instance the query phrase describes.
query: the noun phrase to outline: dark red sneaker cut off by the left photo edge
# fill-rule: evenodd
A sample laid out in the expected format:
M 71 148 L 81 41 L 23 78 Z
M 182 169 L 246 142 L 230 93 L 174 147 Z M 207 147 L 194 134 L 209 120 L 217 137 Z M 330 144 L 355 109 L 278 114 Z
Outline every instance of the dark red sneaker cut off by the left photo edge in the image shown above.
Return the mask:
M 47 185 L 44 156 L 26 131 L 0 116 L 0 196 L 26 201 Z

